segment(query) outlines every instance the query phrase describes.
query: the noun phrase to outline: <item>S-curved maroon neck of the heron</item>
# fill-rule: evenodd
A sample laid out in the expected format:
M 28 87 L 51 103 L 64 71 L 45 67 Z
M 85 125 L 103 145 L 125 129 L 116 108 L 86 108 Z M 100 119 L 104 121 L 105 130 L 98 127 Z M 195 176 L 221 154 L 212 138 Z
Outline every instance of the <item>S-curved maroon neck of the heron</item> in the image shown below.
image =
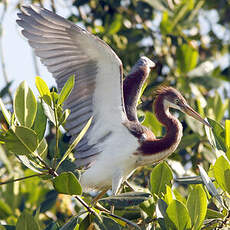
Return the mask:
M 167 152 L 169 155 L 177 148 L 181 135 L 182 125 L 173 117 L 169 108 L 164 107 L 164 94 L 159 94 L 154 102 L 154 110 L 157 119 L 166 127 L 166 135 L 161 139 L 148 139 L 141 144 L 140 151 L 143 155 L 153 155 Z M 163 156 L 162 156 L 163 157 Z

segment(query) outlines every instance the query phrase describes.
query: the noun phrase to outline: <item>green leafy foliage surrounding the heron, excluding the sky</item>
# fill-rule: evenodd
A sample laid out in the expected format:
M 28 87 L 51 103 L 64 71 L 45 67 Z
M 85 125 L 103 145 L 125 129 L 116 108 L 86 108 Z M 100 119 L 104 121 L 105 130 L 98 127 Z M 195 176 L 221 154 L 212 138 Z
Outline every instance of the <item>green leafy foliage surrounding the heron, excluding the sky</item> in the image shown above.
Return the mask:
M 55 11 L 56 3 L 49 4 Z M 7 8 L 5 1 L 0 5 Z M 73 77 L 59 93 L 37 78 L 39 99 L 25 82 L 13 97 L 5 78 L 0 91 L 0 229 L 228 229 L 229 1 L 75 0 L 69 9 L 69 20 L 114 49 L 125 74 L 142 55 L 156 62 L 138 116 L 158 137 L 165 129 L 152 102 L 160 84 L 181 91 L 213 129 L 178 113 L 184 136 L 177 151 L 165 162 L 136 170 L 130 180 L 136 193 L 124 186 L 118 197 L 105 195 L 87 210 L 82 202 L 90 204 L 94 194 L 81 196 L 74 146 L 59 130 L 69 115 L 62 103 Z M 111 205 L 114 215 L 106 211 Z

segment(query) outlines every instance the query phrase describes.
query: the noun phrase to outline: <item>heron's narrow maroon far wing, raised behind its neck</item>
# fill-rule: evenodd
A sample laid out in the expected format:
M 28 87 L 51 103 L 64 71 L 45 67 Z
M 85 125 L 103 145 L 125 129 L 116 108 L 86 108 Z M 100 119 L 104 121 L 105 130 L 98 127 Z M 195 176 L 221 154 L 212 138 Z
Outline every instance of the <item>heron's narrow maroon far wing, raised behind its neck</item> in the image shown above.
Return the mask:
M 126 76 L 123 85 L 124 105 L 127 118 L 130 121 L 138 122 L 137 103 L 141 89 L 146 81 L 150 69 L 155 67 L 155 63 L 147 57 L 141 57 Z

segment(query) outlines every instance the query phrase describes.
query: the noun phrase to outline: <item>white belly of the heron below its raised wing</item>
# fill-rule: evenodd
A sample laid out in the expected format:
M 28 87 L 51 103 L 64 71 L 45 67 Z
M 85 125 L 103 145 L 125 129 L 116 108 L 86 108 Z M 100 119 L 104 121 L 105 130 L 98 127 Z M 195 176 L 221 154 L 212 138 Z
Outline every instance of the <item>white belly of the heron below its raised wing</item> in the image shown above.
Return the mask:
M 103 152 L 81 176 L 80 182 L 85 192 L 111 187 L 117 172 L 125 180 L 136 168 L 137 157 L 133 153 L 139 143 L 125 127 L 120 132 L 113 133 L 103 146 Z

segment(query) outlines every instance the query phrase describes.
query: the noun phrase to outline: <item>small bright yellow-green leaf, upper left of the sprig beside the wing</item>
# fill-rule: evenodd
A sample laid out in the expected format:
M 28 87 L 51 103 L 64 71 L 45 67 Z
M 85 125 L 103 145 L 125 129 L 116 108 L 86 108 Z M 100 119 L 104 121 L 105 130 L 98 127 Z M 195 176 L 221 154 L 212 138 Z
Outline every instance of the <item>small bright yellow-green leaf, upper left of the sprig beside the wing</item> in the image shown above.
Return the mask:
M 52 105 L 51 93 L 45 81 L 40 77 L 36 77 L 35 84 L 41 98 L 45 101 L 46 104 L 51 106 Z

